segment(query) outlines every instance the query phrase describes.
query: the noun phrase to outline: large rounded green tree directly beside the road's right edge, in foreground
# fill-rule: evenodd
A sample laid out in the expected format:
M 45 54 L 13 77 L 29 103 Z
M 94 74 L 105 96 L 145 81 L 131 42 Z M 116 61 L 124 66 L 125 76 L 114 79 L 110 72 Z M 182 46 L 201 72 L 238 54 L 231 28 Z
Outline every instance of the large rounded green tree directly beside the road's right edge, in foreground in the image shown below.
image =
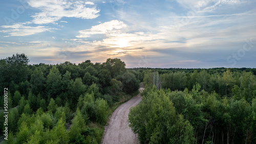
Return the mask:
M 164 94 L 153 92 L 143 97 L 129 113 L 130 127 L 141 142 L 170 143 L 172 126 L 177 115 L 172 101 Z

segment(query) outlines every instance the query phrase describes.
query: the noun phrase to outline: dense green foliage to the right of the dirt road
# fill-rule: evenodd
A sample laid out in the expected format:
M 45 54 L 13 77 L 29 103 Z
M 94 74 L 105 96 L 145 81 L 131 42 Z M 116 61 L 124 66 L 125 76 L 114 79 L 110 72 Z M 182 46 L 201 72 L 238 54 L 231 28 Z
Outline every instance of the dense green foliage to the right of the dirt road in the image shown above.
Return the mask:
M 256 143 L 255 69 L 142 72 L 142 101 L 129 113 L 141 143 Z

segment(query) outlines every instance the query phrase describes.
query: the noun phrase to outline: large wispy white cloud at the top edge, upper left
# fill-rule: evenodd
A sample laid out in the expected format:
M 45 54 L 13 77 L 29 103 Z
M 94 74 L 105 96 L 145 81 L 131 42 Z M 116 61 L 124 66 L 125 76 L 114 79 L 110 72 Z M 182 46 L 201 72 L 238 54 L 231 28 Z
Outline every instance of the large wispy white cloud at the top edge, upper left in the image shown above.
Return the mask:
M 68 0 L 28 0 L 28 4 L 41 10 L 32 15 L 34 24 L 55 23 L 62 17 L 93 19 L 99 16 L 99 9 L 92 2 Z M 86 7 L 90 5 L 90 7 Z

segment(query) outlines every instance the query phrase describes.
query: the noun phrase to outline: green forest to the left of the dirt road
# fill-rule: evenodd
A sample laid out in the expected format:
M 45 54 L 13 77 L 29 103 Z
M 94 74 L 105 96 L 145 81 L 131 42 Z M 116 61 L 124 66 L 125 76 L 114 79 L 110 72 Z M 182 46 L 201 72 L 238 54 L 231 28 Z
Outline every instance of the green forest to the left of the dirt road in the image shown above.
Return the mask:
M 138 72 L 125 69 L 118 58 L 78 65 L 29 61 L 24 53 L 0 60 L 1 143 L 100 143 L 109 115 L 138 93 Z

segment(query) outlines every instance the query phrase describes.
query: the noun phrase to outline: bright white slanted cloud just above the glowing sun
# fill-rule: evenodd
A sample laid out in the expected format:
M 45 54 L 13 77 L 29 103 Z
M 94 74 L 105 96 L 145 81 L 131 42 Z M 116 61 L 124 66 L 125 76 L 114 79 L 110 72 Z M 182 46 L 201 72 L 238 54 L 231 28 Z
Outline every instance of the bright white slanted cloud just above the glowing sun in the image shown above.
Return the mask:
M 123 22 L 119 20 L 111 20 L 110 22 L 105 22 L 96 26 L 93 26 L 91 29 L 80 30 L 80 35 L 76 37 L 90 37 L 92 34 L 106 34 L 111 33 L 115 30 L 119 30 L 126 27 Z

